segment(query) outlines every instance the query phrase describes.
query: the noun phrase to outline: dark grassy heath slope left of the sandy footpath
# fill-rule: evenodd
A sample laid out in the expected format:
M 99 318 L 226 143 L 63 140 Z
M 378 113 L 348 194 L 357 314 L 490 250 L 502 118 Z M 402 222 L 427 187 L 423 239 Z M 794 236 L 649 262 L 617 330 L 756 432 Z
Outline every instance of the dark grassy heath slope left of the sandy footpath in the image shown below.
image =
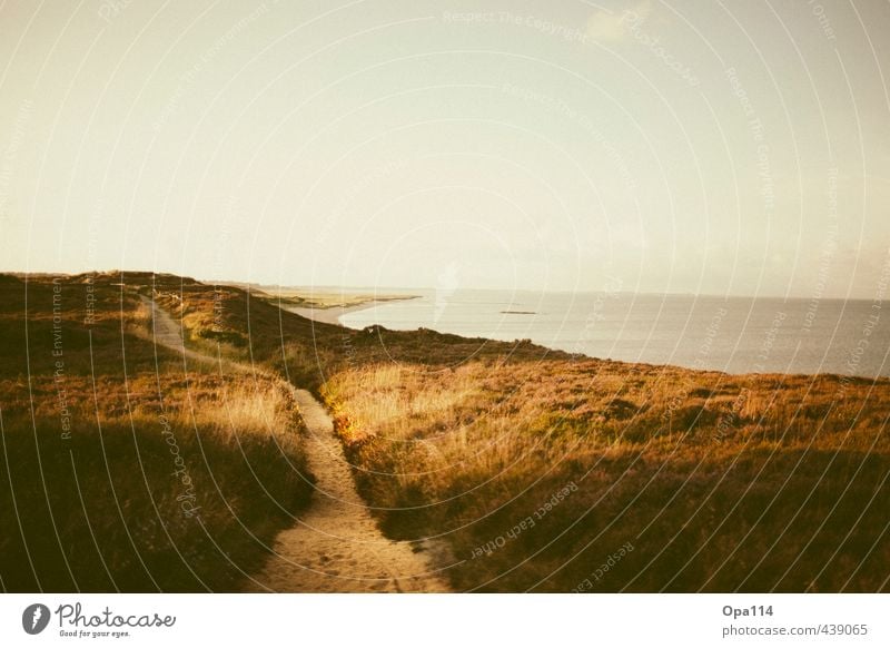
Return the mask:
M 236 589 L 308 501 L 293 397 L 270 375 L 186 371 L 151 343 L 134 287 L 151 277 L 119 281 L 60 284 L 53 355 L 51 281 L 0 278 L 2 588 Z

